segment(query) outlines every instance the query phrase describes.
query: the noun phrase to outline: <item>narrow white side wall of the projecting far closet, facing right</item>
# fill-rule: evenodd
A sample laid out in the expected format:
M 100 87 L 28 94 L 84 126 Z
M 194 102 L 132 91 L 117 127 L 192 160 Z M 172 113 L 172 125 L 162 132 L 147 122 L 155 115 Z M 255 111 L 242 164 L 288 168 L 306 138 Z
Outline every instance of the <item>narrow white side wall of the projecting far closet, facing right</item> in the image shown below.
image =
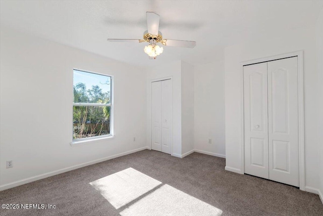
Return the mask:
M 194 150 L 194 66 L 182 61 L 182 154 Z

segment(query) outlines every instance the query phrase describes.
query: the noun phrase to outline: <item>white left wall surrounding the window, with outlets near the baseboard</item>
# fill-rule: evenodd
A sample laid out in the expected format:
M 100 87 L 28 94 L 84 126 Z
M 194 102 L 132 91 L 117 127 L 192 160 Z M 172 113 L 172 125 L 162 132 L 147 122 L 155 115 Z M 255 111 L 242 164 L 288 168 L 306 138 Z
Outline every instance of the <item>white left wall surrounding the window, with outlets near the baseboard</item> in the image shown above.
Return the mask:
M 3 26 L 0 47 L 1 189 L 146 147 L 146 74 L 140 68 Z M 115 138 L 70 146 L 73 68 L 114 76 Z M 6 168 L 6 160 L 14 167 Z

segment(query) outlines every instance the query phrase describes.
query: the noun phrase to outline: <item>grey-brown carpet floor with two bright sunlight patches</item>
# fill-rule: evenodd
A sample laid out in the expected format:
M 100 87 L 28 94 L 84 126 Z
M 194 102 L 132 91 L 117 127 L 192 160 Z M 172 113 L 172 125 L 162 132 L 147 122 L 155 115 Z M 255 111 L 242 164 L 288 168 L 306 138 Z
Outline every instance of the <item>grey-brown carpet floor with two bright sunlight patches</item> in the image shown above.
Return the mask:
M 1 204 L 40 209 L 0 215 L 323 215 L 315 194 L 224 167 L 224 158 L 143 150 L 1 191 Z

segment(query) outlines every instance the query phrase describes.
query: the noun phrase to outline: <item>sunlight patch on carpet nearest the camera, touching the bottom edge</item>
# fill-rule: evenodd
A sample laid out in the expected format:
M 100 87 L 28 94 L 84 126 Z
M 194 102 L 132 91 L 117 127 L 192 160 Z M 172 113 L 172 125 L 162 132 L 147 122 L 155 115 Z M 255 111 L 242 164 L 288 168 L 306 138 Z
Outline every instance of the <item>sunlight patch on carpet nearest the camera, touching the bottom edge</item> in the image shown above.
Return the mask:
M 222 210 L 169 185 L 163 185 L 120 212 L 134 215 L 214 215 Z

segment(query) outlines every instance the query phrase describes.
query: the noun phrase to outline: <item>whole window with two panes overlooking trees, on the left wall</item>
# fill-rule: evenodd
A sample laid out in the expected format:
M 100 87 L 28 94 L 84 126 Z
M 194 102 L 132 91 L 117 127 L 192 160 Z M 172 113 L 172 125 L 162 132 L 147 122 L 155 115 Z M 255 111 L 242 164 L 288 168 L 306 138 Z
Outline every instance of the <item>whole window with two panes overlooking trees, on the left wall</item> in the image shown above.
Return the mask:
M 112 77 L 73 70 L 73 141 L 111 136 Z

